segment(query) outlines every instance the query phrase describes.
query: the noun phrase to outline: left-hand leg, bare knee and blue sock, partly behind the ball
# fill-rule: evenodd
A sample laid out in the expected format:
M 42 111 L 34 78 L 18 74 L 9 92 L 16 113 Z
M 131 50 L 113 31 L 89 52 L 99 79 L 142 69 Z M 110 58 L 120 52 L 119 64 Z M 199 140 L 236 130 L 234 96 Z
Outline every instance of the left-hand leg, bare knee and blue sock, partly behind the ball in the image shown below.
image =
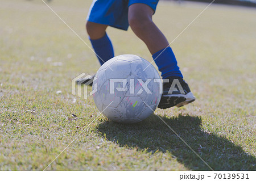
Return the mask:
M 92 43 L 95 53 L 98 55 L 97 58 L 101 65 L 114 57 L 112 43 L 106 34 L 107 27 L 108 26 L 105 24 L 93 22 L 86 23 L 86 30 L 88 32 L 90 42 Z

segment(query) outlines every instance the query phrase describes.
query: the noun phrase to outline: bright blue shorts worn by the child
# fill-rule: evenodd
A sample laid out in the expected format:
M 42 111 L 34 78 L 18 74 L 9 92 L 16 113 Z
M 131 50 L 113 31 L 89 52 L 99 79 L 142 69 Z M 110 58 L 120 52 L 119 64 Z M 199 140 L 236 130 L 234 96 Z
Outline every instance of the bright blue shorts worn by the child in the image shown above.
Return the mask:
M 106 24 L 121 30 L 127 30 L 128 7 L 134 3 L 143 3 L 155 11 L 159 0 L 93 0 L 87 16 L 88 22 Z

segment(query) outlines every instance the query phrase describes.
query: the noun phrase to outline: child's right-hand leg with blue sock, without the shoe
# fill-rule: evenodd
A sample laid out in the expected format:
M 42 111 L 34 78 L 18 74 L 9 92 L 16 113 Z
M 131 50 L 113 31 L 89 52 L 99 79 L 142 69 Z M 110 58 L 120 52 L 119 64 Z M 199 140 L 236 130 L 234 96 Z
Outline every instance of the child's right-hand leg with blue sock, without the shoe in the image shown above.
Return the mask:
M 128 20 L 131 29 L 147 45 L 152 57 L 155 60 L 163 78 L 183 77 L 180 72 L 177 61 L 169 47 L 169 43 L 163 33 L 156 27 L 152 21 L 154 10 L 143 3 L 134 3 L 129 6 Z M 168 47 L 168 48 L 167 48 Z M 163 49 L 162 54 L 160 54 Z M 159 56 L 160 54 L 160 56 Z M 159 57 L 158 57 L 159 56 Z

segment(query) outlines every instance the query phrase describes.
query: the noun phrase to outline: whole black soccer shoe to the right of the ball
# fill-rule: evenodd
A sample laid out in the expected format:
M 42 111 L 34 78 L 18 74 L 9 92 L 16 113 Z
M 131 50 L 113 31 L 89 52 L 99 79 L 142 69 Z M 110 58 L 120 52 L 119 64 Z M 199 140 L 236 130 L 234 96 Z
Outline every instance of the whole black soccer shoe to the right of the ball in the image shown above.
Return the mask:
M 158 105 L 161 109 L 181 107 L 196 100 L 187 82 L 181 77 L 170 77 L 169 82 L 163 83 L 163 94 Z

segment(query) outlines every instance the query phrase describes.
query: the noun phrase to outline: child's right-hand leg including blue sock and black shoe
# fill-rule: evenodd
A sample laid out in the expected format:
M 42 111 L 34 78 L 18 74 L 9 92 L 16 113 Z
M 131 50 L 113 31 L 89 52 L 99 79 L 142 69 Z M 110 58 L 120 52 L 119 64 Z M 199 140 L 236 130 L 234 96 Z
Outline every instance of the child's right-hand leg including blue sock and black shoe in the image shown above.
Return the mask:
M 163 109 L 173 106 L 181 107 L 193 102 L 196 98 L 183 80 L 183 75 L 166 37 L 152 22 L 153 14 L 154 10 L 146 4 L 131 4 L 128 11 L 129 23 L 134 33 L 147 45 L 159 71 L 162 72 L 162 77 L 170 81 L 170 83 L 163 83 L 163 94 L 158 107 Z M 182 89 L 178 87 L 179 90 L 170 92 L 175 79 L 179 81 Z

